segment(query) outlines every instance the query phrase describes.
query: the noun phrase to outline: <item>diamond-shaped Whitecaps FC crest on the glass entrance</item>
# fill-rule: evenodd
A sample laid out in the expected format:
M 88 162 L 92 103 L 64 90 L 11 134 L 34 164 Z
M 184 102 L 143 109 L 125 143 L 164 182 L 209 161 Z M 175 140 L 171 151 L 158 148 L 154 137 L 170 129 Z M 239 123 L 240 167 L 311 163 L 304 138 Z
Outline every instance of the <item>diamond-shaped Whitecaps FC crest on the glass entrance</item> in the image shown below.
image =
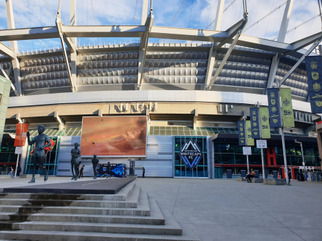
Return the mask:
M 185 145 L 181 148 L 179 153 L 181 160 L 185 163 L 185 167 L 197 167 L 200 159 L 203 157 L 203 153 L 196 142 L 192 139 L 185 141 Z

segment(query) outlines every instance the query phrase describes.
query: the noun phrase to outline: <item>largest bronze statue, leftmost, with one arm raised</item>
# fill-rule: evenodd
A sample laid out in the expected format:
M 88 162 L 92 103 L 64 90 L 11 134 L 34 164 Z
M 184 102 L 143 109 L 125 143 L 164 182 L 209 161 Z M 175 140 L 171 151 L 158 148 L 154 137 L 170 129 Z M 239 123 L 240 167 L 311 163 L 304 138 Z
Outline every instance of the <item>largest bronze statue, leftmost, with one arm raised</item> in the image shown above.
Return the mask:
M 43 132 L 45 132 L 45 129 L 46 127 L 44 125 L 39 125 L 38 135 L 32 138 L 32 140 L 30 140 L 30 133 L 27 132 L 28 144 L 33 145 L 35 143 L 34 152 L 32 155 L 32 157 L 34 158 L 34 169 L 32 172 L 32 179 L 30 180 L 29 183 L 33 183 L 36 181 L 36 178 L 34 178 L 34 170 L 36 169 L 37 164 L 39 169 L 43 171 L 44 181 L 46 182 L 46 180 L 48 180 L 48 173 L 45 167 L 43 167 L 43 164 L 45 163 L 45 158 L 46 158 L 45 148 L 50 147 L 51 143 L 50 143 L 50 138 L 47 135 L 43 134 Z

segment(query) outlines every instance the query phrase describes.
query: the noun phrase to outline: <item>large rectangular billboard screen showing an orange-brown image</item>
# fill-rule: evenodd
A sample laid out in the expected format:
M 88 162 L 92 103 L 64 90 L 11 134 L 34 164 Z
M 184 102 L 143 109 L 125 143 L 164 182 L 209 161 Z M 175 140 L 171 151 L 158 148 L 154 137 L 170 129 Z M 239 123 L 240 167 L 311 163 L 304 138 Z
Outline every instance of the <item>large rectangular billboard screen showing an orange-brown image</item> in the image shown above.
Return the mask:
M 146 156 L 146 116 L 83 117 L 81 156 Z

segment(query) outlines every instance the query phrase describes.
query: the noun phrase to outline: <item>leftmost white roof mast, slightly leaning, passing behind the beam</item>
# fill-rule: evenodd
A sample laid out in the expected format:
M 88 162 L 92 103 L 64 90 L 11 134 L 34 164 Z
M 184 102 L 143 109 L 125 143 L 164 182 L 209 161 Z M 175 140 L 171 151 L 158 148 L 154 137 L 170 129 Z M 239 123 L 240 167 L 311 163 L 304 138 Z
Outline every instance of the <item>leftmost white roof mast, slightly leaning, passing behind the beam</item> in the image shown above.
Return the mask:
M 15 26 L 14 26 L 12 0 L 6 0 L 6 8 L 7 8 L 8 29 L 14 29 Z M 19 59 L 17 58 L 17 53 L 18 53 L 17 41 L 10 41 L 10 48 L 13 50 L 13 54 L 14 54 L 14 59 L 12 59 L 12 67 L 14 72 L 14 82 L 16 85 L 16 90 L 19 93 L 19 95 L 22 95 L 20 63 L 19 63 Z

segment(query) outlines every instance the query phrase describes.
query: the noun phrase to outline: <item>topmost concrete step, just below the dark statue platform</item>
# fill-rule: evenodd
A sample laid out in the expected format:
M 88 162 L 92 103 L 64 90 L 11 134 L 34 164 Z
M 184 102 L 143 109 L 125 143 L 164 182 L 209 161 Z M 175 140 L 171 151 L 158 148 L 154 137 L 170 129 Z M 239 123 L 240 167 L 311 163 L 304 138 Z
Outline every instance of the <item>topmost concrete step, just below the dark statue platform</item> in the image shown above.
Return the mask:
M 130 182 L 119 193 L 113 195 L 99 194 L 55 194 L 55 193 L 0 193 L 0 199 L 28 199 L 28 200 L 95 200 L 95 201 L 125 201 L 130 195 L 137 180 Z

